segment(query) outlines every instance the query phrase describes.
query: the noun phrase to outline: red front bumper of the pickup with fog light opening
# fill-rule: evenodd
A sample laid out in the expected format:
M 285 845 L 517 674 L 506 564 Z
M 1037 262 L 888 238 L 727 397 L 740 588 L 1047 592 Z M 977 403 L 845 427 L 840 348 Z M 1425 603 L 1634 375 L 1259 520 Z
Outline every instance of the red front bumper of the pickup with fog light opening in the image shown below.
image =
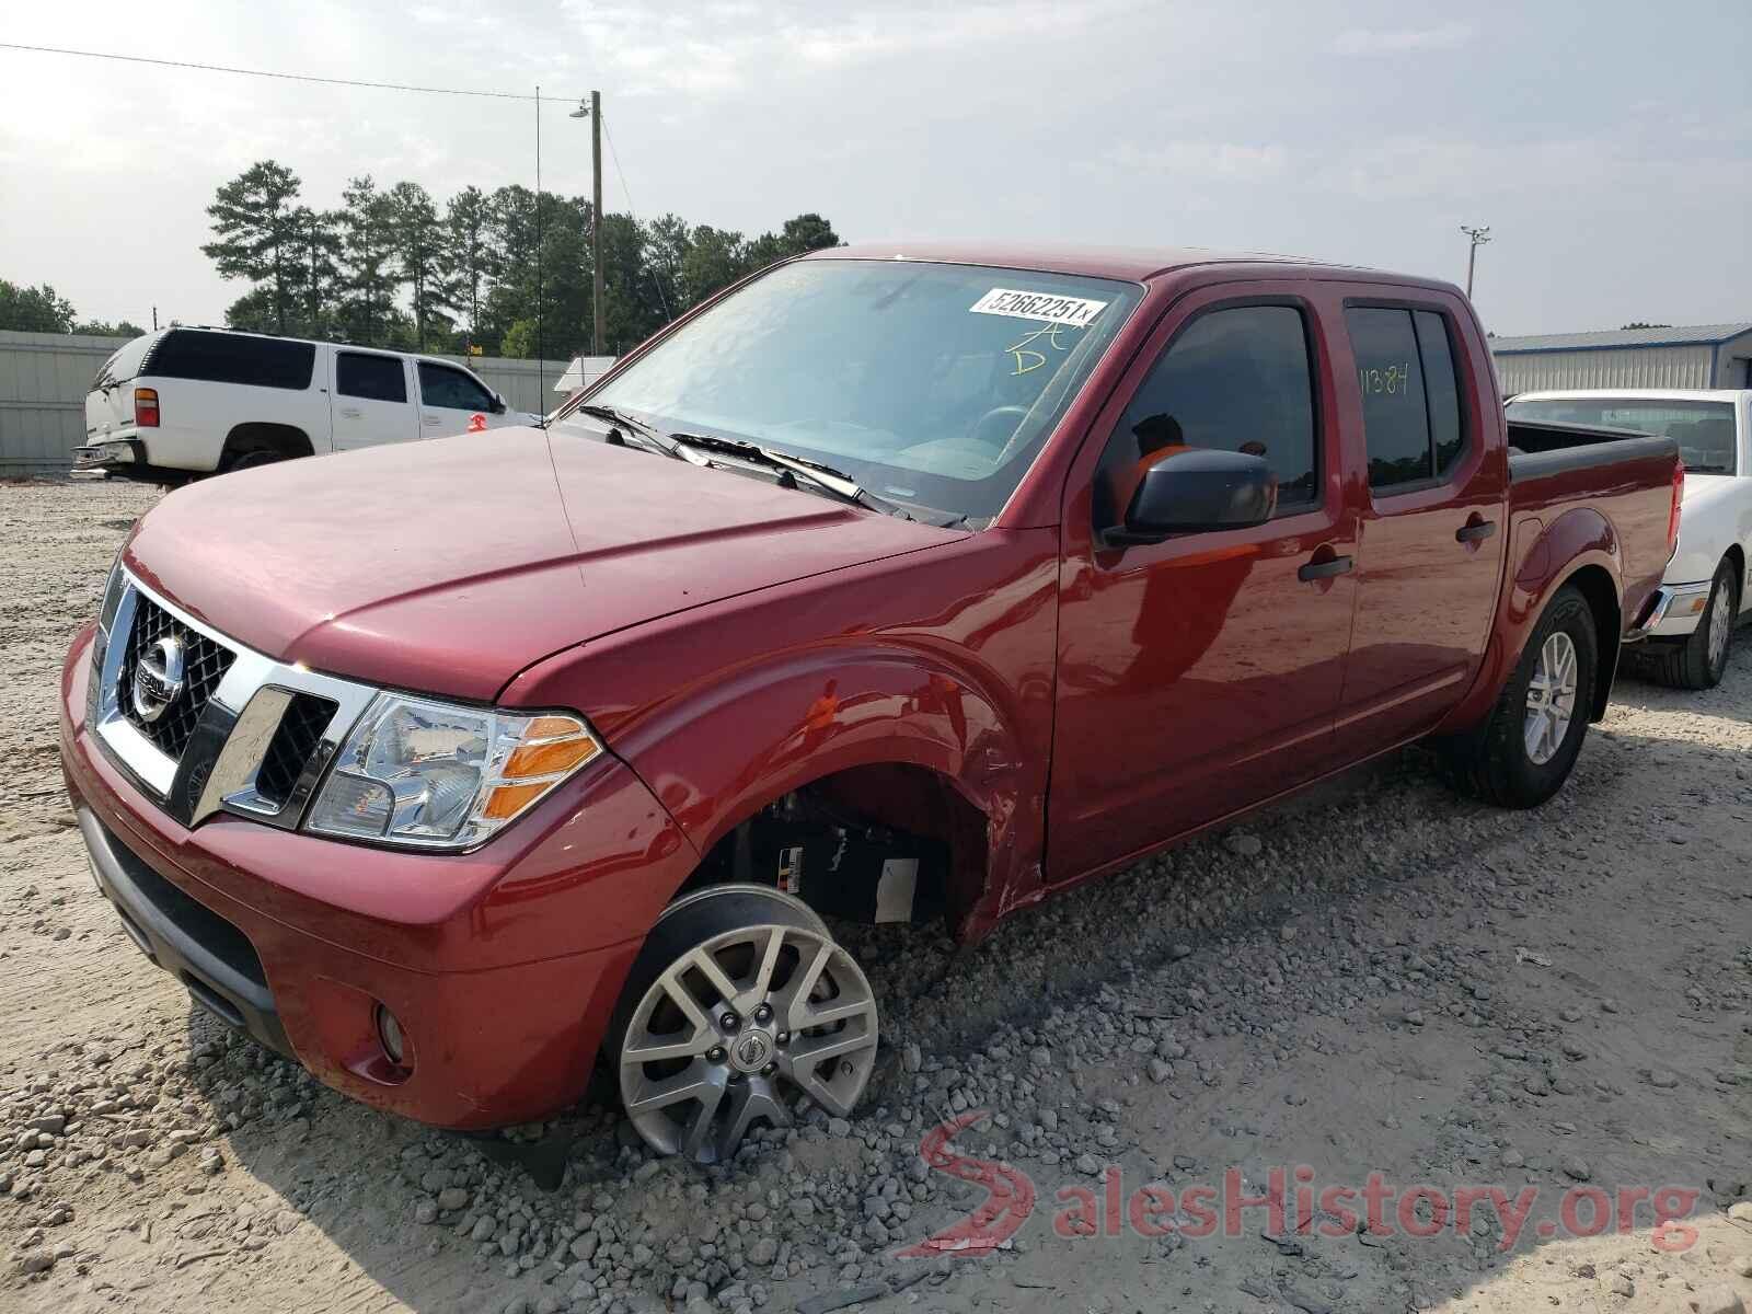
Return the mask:
M 697 862 L 606 760 L 466 855 L 221 815 L 184 829 L 84 729 L 91 631 L 61 680 L 61 762 L 98 885 L 198 1004 L 378 1109 L 452 1128 L 575 1102 L 627 969 Z M 566 795 L 566 797 L 561 797 Z M 406 1035 L 384 1051 L 377 1009 Z

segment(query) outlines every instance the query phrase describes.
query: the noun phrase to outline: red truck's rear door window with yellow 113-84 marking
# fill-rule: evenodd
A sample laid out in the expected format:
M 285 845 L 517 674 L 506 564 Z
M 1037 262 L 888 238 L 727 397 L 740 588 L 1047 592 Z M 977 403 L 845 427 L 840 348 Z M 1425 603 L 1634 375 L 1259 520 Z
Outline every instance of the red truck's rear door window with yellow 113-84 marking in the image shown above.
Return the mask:
M 1363 394 L 1368 487 L 1398 489 L 1447 475 L 1466 450 L 1447 317 L 1351 307 L 1344 321 Z

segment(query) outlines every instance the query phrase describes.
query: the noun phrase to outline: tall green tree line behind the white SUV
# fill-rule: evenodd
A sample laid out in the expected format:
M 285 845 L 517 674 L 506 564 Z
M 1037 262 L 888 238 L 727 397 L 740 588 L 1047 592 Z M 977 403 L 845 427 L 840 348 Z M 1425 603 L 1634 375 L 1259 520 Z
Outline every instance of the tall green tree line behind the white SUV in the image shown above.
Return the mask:
M 221 186 L 201 251 L 251 284 L 240 329 L 405 350 L 564 357 L 590 349 L 590 201 L 510 186 L 442 205 L 417 182 L 352 179 L 329 210 L 263 159 Z M 745 273 L 839 245 L 818 214 L 748 238 L 666 214 L 603 214 L 603 336 L 620 354 Z M 540 261 L 538 261 L 540 256 Z M 540 266 L 540 275 L 538 275 Z

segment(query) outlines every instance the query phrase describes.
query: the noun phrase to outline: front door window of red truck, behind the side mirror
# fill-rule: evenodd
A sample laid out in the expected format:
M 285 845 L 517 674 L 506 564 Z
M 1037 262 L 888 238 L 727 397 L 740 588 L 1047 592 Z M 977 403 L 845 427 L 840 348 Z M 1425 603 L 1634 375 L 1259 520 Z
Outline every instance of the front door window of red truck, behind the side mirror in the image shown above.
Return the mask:
M 1132 396 L 1095 480 L 1100 526 L 1118 524 L 1146 457 L 1170 447 L 1249 452 L 1277 475 L 1279 513 L 1319 491 L 1307 326 L 1288 305 L 1207 310 L 1179 331 Z

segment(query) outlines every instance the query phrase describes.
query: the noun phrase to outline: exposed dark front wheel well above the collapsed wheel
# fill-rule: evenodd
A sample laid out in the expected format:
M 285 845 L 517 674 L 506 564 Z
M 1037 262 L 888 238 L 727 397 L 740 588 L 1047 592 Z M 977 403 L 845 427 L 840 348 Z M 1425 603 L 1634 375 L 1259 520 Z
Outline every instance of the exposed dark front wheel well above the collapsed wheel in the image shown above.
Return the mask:
M 878 890 L 885 872 L 916 881 L 909 918 L 895 915 L 892 890 Z M 855 922 L 929 922 L 941 913 L 953 932 L 985 880 L 985 813 L 948 776 L 885 762 L 822 776 L 757 808 L 711 846 L 683 892 L 757 881 Z

